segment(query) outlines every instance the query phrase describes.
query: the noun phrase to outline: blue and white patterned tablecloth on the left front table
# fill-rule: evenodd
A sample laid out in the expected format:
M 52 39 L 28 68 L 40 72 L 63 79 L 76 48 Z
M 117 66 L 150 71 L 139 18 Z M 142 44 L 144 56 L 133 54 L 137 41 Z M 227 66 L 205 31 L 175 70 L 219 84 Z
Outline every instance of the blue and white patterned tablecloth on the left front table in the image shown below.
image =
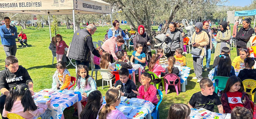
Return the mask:
M 43 97 L 41 94 L 37 98 Z M 82 100 L 80 92 L 74 92 L 73 95 L 65 95 L 62 90 L 55 90 L 49 95 L 51 100 L 50 106 L 47 109 L 51 111 L 51 119 L 60 119 L 65 108 L 74 105 L 76 102 Z M 36 100 L 37 98 L 34 98 Z

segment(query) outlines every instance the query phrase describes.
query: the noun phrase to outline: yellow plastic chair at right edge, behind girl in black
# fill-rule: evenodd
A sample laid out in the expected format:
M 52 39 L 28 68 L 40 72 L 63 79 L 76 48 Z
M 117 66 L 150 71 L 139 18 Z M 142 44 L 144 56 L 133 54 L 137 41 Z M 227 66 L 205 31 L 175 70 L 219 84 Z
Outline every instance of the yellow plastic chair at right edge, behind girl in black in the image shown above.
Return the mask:
M 253 79 L 245 79 L 243 80 L 243 87 L 246 89 L 251 89 L 250 92 L 246 92 L 248 95 L 251 95 L 251 100 L 254 102 L 254 94 L 253 90 L 256 88 L 256 80 Z

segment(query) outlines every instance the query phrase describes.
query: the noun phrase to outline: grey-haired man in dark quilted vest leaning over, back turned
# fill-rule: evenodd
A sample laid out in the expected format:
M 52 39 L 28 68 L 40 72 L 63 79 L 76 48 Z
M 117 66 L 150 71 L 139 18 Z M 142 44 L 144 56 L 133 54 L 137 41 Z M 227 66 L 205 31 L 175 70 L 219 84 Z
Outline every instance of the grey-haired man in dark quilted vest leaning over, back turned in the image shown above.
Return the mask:
M 94 48 L 92 43 L 92 35 L 96 31 L 96 26 L 89 24 L 86 29 L 77 30 L 70 44 L 68 57 L 76 60 L 76 65 L 83 64 L 89 68 L 91 60 L 91 52 L 93 55 L 100 57 L 100 54 Z

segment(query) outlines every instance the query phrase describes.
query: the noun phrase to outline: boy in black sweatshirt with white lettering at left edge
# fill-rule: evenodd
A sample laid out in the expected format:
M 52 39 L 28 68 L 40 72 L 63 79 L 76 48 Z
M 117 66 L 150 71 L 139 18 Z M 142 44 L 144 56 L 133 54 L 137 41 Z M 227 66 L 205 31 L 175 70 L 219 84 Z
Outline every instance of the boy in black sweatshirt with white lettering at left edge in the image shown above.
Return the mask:
M 27 69 L 23 68 L 18 63 L 15 56 L 8 56 L 5 59 L 5 69 L 0 72 L 0 113 L 3 114 L 3 107 L 5 105 L 5 98 L 9 94 L 9 90 L 18 84 L 27 84 L 32 95 L 33 81 L 30 78 Z M 2 119 L 8 119 L 2 116 Z

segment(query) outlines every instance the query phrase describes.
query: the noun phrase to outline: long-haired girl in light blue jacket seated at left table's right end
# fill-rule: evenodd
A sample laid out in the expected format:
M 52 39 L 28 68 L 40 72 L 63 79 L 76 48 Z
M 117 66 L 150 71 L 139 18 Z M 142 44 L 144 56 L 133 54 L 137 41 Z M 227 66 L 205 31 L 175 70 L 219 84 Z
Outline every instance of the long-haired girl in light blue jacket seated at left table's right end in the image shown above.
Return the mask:
M 89 75 L 89 70 L 87 66 L 85 65 L 78 65 L 77 66 L 77 73 L 76 73 L 76 88 L 74 91 L 81 92 L 82 94 L 82 100 L 81 102 L 87 101 L 88 95 L 93 92 L 94 90 L 97 90 L 97 85 L 95 80 Z M 77 109 L 77 103 L 73 105 Z M 83 105 L 82 105 L 83 107 Z M 76 115 L 75 112 L 73 116 Z

